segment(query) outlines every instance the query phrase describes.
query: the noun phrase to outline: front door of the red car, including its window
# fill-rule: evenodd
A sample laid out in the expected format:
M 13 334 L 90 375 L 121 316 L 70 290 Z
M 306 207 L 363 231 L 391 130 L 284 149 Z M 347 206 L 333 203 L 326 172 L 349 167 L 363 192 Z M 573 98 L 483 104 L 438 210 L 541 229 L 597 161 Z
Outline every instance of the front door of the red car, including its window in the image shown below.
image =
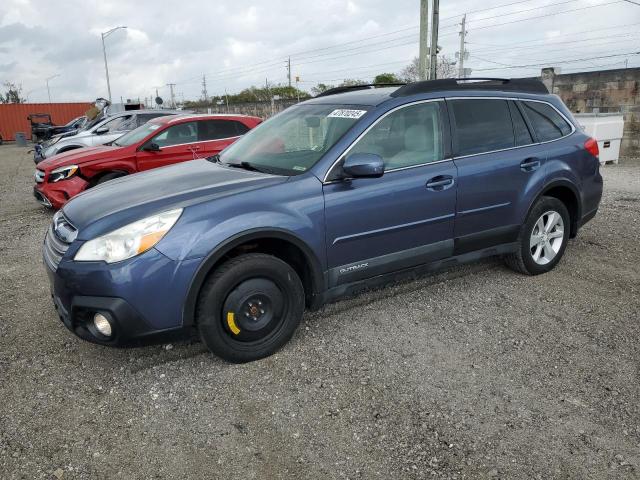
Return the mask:
M 159 151 L 144 150 L 144 145 L 136 154 L 138 170 L 150 170 L 173 163 L 199 158 L 198 122 L 183 122 L 165 128 L 145 145 L 155 143 Z

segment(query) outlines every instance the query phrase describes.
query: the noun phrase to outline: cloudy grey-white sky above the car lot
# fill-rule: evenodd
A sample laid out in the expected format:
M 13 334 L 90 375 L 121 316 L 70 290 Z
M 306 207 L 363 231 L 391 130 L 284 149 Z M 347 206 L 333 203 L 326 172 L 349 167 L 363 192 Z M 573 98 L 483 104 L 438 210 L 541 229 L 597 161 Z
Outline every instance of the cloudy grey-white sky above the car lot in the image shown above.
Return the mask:
M 0 82 L 30 102 L 93 100 L 107 93 L 100 33 L 107 40 L 114 101 L 178 100 L 251 85 L 300 87 L 399 72 L 418 53 L 419 0 L 2 0 Z M 536 75 L 640 66 L 640 6 L 626 0 L 444 0 L 442 53 L 459 49 L 467 13 L 467 66 L 474 76 Z

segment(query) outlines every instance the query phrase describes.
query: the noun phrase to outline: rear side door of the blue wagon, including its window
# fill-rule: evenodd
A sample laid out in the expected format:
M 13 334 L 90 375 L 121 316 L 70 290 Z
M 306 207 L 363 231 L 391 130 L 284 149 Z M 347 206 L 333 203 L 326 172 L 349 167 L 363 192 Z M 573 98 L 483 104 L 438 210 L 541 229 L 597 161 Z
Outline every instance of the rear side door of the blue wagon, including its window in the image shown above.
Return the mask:
M 515 241 L 545 157 L 512 100 L 447 100 L 458 167 L 455 253 Z

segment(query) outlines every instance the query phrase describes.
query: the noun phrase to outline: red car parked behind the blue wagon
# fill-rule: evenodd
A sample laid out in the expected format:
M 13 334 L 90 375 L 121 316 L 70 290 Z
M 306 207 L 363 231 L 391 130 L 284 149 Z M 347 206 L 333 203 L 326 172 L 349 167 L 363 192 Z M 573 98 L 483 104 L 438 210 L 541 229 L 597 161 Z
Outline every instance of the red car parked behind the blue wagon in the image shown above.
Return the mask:
M 36 199 L 58 209 L 100 183 L 220 153 L 262 119 L 245 115 L 158 117 L 109 145 L 60 153 L 38 164 Z

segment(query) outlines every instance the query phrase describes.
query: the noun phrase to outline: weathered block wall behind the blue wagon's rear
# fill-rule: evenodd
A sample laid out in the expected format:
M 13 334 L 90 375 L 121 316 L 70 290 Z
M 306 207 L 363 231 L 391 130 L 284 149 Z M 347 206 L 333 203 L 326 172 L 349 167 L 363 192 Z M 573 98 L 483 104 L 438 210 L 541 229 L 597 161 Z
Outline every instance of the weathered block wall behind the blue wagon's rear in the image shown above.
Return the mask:
M 541 77 L 549 91 L 559 95 L 574 113 L 622 113 L 620 154 L 640 157 L 640 68 L 569 74 L 544 68 Z

